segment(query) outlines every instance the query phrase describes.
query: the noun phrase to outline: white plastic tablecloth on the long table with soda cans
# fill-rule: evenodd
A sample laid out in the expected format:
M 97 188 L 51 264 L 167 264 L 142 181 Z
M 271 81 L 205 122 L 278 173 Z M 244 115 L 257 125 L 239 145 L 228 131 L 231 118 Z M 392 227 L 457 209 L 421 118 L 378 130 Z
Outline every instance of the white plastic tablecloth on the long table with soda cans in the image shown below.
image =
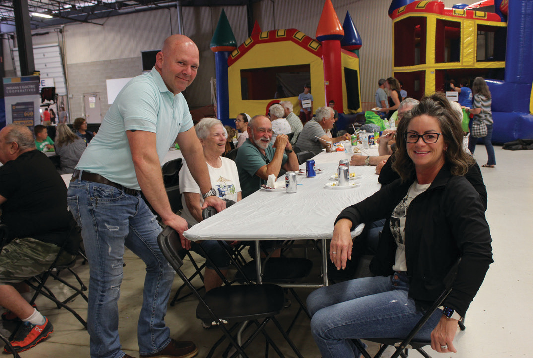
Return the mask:
M 362 150 L 362 155 L 377 155 L 377 146 Z M 337 172 L 344 153 L 320 153 L 313 159 L 323 171 L 314 178 L 297 175 L 297 193 L 257 190 L 215 216 L 200 222 L 184 233 L 197 240 L 313 240 L 331 238 L 338 214 L 379 190 L 375 166 L 351 166 L 362 174 L 360 185 L 349 189 L 324 188 Z M 305 164 L 300 168 L 305 171 Z M 278 181 L 284 181 L 284 177 Z M 360 225 L 353 236 L 361 233 Z

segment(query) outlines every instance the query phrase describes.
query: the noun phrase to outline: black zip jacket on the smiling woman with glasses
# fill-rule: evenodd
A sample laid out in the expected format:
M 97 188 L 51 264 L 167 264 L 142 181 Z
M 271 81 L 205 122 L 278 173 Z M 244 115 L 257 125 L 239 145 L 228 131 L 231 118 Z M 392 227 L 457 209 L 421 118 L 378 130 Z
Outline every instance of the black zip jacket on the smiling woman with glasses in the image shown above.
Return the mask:
M 396 244 L 389 218 L 407 195 L 413 180 L 395 180 L 374 195 L 344 209 L 337 217 L 361 222 L 387 219 L 378 253 L 370 262 L 376 275 L 392 274 Z M 444 305 L 464 316 L 492 260 L 491 237 L 480 195 L 464 177 L 443 166 L 431 186 L 410 203 L 406 218 L 406 259 L 409 297 L 428 307 L 444 290 L 443 279 L 458 256 L 457 275 Z

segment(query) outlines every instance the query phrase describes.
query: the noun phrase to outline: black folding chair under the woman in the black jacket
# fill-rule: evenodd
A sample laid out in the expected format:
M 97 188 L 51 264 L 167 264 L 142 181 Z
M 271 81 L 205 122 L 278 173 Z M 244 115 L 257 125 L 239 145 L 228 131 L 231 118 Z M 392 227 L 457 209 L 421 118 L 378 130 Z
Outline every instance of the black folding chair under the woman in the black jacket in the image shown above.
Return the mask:
M 461 262 L 461 257 L 457 259 L 455 264 L 450 268 L 448 274 L 446 275 L 444 280 L 445 289 L 442 291 L 440 296 L 433 302 L 433 305 L 429 309 L 427 309 L 426 313 L 418 321 L 415 327 L 409 332 L 406 338 L 363 338 L 365 340 L 381 344 L 381 348 L 379 348 L 379 351 L 376 353 L 376 355 L 374 355 L 374 358 L 381 357 L 385 349 L 389 346 L 396 347 L 396 350 L 391 355 L 391 358 L 397 358 L 398 356 L 406 358 L 409 355 L 410 348 L 416 349 L 425 358 L 431 358 L 431 355 L 427 354 L 427 352 L 423 349 L 424 346 L 431 345 L 431 340 L 419 341 L 413 340 L 413 338 L 427 322 L 427 320 L 430 319 L 431 315 L 435 312 L 435 310 L 437 310 L 437 308 L 442 305 L 443 301 L 450 294 L 451 285 L 453 284 L 455 274 L 457 273 L 457 266 L 459 265 L 459 262 Z M 462 331 L 465 330 L 463 322 L 459 321 L 458 325 Z M 372 358 L 372 356 L 370 356 L 370 354 L 366 351 L 365 347 L 361 344 L 361 341 L 359 339 L 352 339 L 352 341 L 365 358 Z

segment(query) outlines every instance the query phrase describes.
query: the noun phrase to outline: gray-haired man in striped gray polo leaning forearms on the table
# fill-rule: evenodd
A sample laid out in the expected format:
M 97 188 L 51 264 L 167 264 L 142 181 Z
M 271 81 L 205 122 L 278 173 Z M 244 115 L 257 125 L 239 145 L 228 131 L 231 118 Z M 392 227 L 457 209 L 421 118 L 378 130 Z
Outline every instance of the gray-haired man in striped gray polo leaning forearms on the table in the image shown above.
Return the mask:
M 319 107 L 315 115 L 316 117 L 313 120 L 305 123 L 303 126 L 303 130 L 296 141 L 298 148 L 318 154 L 322 148 L 326 148 L 326 141 L 335 143 L 350 139 L 350 134 L 348 133 L 335 138 L 331 138 L 326 134 L 328 130 L 333 128 L 333 124 L 335 123 L 335 111 L 333 108 Z

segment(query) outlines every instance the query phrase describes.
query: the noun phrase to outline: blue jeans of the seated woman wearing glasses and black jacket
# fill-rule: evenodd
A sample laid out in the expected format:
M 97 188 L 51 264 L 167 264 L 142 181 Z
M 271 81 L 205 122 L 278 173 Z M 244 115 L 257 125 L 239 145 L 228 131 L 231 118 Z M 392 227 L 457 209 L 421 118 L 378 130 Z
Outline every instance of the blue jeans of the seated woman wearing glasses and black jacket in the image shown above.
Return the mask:
M 311 333 L 322 358 L 359 357 L 351 338 L 405 338 L 424 312 L 408 297 L 405 273 L 364 277 L 320 288 L 307 298 Z M 415 339 L 430 340 L 437 309 Z

